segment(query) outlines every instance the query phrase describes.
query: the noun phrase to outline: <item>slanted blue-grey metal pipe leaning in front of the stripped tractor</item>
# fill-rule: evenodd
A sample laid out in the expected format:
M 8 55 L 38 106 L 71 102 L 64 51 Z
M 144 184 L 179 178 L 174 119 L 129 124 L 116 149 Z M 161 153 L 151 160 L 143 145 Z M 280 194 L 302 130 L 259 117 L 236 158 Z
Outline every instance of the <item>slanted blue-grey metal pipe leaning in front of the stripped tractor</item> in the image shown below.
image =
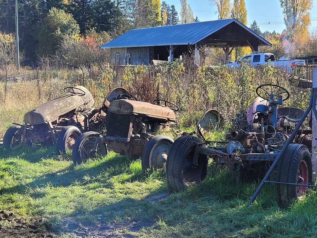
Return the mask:
M 292 134 L 289 136 L 288 140 L 285 142 L 283 148 L 281 149 L 281 152 L 277 155 L 275 161 L 273 162 L 273 164 L 271 165 L 270 169 L 268 170 L 268 172 L 266 173 L 266 175 L 264 176 L 262 182 L 260 183 L 259 187 L 256 189 L 256 191 L 254 192 L 253 196 L 251 197 L 250 201 L 248 202 L 247 207 L 249 207 L 252 202 L 254 202 L 256 200 L 257 195 L 259 195 L 262 187 L 264 186 L 265 182 L 267 181 L 269 176 L 271 175 L 271 173 L 273 172 L 273 170 L 275 169 L 277 163 L 279 162 L 279 160 L 281 159 L 282 155 L 284 155 L 287 147 L 289 146 L 289 144 L 291 142 L 293 142 L 297 131 L 300 129 L 301 124 L 303 124 L 303 122 L 305 121 L 310 109 L 312 108 L 312 105 L 314 103 L 314 105 L 316 105 L 316 92 L 317 92 L 317 88 L 312 88 L 311 92 L 310 92 L 310 98 L 309 98 L 309 104 L 308 104 L 308 108 L 306 109 L 304 115 L 301 117 L 301 120 L 298 122 L 298 124 L 296 125 L 296 127 L 294 128 L 294 130 L 292 131 Z M 314 102 L 313 102 L 314 101 Z M 313 107 L 314 108 L 314 107 Z M 316 111 L 316 116 L 317 116 L 317 110 L 316 107 L 314 110 L 314 113 Z

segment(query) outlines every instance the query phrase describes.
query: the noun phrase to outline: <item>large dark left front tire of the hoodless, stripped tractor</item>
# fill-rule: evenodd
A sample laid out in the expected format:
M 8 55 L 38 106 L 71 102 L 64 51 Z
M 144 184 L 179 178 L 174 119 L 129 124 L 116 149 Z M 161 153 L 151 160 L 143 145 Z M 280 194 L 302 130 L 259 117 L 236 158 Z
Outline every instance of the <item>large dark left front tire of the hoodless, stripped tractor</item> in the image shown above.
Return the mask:
M 199 154 L 197 166 L 191 165 L 196 143 L 202 143 L 196 136 L 181 136 L 172 144 L 165 169 L 167 185 L 171 190 L 182 191 L 206 177 L 207 155 Z

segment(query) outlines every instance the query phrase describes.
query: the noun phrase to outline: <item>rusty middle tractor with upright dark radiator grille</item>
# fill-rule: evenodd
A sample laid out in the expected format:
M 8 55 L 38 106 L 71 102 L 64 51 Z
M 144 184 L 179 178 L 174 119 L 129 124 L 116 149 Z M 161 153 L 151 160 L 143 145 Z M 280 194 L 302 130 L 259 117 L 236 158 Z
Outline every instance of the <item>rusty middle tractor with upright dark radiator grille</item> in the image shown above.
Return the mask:
M 76 141 L 74 164 L 98 155 L 104 156 L 109 148 L 120 155 L 142 155 L 143 170 L 163 168 L 174 140 L 154 134 L 172 127 L 175 123 L 174 112 L 179 109 L 165 100 L 154 100 L 153 103 L 135 101 L 126 94 L 118 96 L 107 109 L 103 132 L 86 132 Z M 172 105 L 172 108 L 168 105 Z

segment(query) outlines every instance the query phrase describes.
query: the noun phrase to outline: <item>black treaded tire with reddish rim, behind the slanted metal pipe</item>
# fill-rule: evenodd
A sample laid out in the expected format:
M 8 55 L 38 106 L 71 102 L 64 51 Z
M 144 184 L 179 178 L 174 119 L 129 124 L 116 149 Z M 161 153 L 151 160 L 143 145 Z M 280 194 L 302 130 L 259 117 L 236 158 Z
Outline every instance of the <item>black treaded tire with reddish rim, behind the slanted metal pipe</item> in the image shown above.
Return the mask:
M 277 165 L 277 181 L 298 184 L 312 184 L 313 162 L 305 145 L 290 144 Z M 277 184 L 277 201 L 281 207 L 288 207 L 308 192 L 306 186 Z

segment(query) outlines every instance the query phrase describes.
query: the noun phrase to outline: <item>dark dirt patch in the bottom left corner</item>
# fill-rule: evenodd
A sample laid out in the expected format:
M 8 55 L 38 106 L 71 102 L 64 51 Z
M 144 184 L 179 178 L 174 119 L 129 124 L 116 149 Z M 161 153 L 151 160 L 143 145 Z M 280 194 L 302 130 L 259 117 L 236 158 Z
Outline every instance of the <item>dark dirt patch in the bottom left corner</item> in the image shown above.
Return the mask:
M 25 221 L 23 218 L 17 218 L 13 213 L 0 211 L 0 222 L 0 238 L 53 237 L 42 218 Z

